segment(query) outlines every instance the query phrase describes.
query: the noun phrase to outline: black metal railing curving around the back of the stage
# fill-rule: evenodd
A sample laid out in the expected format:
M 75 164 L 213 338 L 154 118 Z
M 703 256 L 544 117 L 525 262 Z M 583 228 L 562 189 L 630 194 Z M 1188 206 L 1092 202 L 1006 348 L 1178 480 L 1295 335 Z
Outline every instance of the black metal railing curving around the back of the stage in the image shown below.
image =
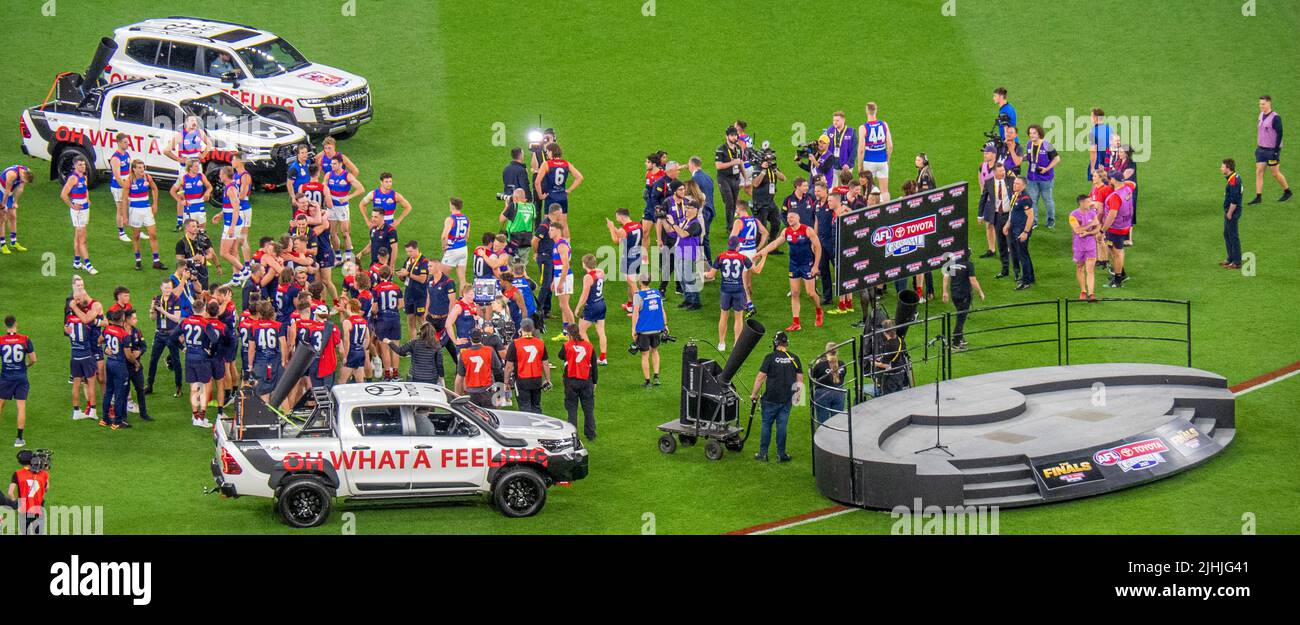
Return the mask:
M 1119 314 L 1115 312 L 1117 309 L 1132 308 L 1157 312 L 1175 308 L 1180 309 L 1182 318 L 1117 317 Z M 1084 313 L 1084 311 L 1091 313 Z M 1023 318 L 1026 316 L 1028 318 Z M 975 327 L 970 330 L 962 327 L 962 333 L 958 334 L 958 317 L 962 317 L 965 324 L 975 320 Z M 1006 317 L 1020 318 L 1008 321 Z M 1080 330 L 1072 329 L 1072 326 L 1080 324 L 1088 324 L 1086 327 L 1100 327 L 1100 330 L 1079 334 Z M 1178 335 L 1141 335 L 1130 330 L 1131 327 L 1148 326 L 1173 327 L 1176 329 Z M 919 337 L 916 330 L 920 330 Z M 1011 335 L 1008 338 L 1009 333 Z M 902 337 L 894 343 L 894 339 L 888 337 L 889 334 L 896 337 L 901 334 Z M 918 338 L 919 340 L 916 340 Z M 1071 353 L 1070 346 L 1072 343 L 1097 340 L 1184 343 L 1186 365 L 1191 366 L 1192 304 L 1188 300 L 1148 298 L 1023 301 L 931 314 L 893 327 L 866 327 L 861 335 L 836 343 L 822 352 L 809 368 L 810 443 L 814 446 L 811 453 L 812 474 L 816 474 L 815 438 L 818 431 L 827 427 L 831 431 L 841 433 L 848 440 L 852 492 L 858 492 L 857 472 L 853 468 L 855 457 L 853 451 L 853 407 L 897 390 L 953 379 L 956 377 L 953 376 L 954 356 L 959 355 L 966 359 L 971 353 L 989 350 L 1052 346 L 1056 347 L 1054 360 L 1048 353 L 1044 361 L 1036 364 L 1019 360 L 1020 366 L 1018 368 L 1069 365 L 1071 357 L 1080 356 L 1078 348 Z M 849 359 L 844 357 L 845 350 L 850 355 Z M 840 377 L 822 376 L 822 378 L 816 378 L 811 376 L 815 369 L 819 369 L 818 363 L 831 361 L 838 363 L 836 370 L 842 366 Z M 928 364 L 936 364 L 939 373 L 927 377 L 931 368 L 920 365 Z M 842 426 L 831 422 L 833 417 L 841 415 L 844 416 Z

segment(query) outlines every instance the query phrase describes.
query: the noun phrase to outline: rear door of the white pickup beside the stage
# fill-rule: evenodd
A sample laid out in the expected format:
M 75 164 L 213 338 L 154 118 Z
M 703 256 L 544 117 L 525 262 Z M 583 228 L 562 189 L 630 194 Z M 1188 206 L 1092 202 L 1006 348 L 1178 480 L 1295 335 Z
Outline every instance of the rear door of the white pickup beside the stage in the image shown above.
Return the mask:
M 410 437 L 403 431 L 399 404 L 359 405 L 342 421 L 350 433 L 342 437 L 343 469 L 354 495 L 400 494 L 411 490 L 411 464 L 406 456 Z

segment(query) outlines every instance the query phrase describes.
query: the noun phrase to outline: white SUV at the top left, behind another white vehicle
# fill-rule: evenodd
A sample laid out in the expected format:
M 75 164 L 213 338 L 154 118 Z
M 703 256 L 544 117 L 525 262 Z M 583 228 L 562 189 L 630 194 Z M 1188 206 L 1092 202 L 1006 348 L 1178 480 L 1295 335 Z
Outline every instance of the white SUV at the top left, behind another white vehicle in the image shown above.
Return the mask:
M 370 87 L 356 74 L 308 61 L 273 32 L 192 17 L 146 19 L 113 31 L 110 82 L 143 77 L 218 87 L 256 113 L 308 135 L 351 136 L 370 121 Z

